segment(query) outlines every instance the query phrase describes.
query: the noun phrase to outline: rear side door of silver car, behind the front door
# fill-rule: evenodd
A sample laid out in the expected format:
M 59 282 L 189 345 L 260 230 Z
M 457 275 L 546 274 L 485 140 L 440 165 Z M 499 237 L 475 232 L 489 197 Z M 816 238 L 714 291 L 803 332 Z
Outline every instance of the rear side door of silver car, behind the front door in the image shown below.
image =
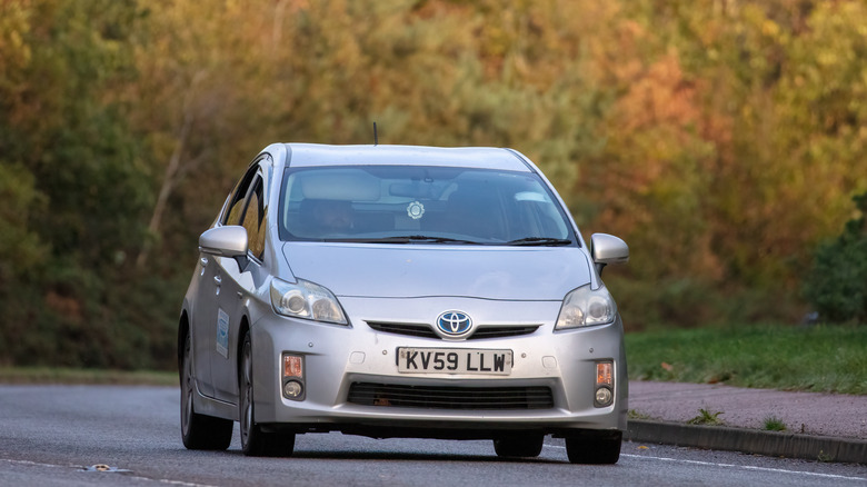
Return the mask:
M 223 212 L 216 226 L 238 225 L 250 183 L 256 176 L 256 168 L 250 168 L 238 181 L 229 196 Z M 228 325 L 228 312 L 221 310 L 219 297 L 222 294 L 223 259 L 221 257 L 199 252 L 198 286 L 192 309 L 192 347 L 193 372 L 199 390 L 209 397 L 215 397 L 213 375 L 211 371 L 212 356 L 220 354 L 217 341 L 219 329 Z

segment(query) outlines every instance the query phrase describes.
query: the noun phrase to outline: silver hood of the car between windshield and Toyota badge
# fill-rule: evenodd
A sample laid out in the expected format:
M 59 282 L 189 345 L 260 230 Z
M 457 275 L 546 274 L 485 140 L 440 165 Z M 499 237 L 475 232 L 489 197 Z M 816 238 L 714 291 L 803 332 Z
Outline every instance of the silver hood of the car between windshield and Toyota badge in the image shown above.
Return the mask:
M 590 282 L 576 247 L 455 247 L 287 242 L 297 278 L 337 296 L 561 300 Z

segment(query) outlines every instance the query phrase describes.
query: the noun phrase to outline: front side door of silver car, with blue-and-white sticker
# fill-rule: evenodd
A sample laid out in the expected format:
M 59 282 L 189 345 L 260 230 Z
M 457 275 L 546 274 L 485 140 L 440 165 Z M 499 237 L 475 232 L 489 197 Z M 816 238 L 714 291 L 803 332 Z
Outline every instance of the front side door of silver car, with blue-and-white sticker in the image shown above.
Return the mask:
M 265 282 L 262 269 L 267 219 L 267 168 L 260 167 L 253 177 L 239 223 L 247 229 L 248 264 L 241 269 L 235 259 L 220 259 L 221 291 L 217 296 L 218 326 L 215 329 L 216 351 L 211 355 L 215 397 L 235 402 L 238 397 L 238 331 L 245 316 L 245 300 L 255 298 Z

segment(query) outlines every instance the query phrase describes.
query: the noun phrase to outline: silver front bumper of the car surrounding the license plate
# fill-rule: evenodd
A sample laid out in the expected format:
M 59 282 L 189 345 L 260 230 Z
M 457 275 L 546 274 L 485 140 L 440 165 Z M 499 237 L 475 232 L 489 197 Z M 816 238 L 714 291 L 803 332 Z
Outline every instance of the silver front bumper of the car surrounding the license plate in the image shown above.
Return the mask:
M 359 309 L 361 306 L 360 300 L 341 299 L 341 302 L 350 316 L 355 305 Z M 441 310 L 445 305 L 428 302 L 427 306 Z M 475 316 L 485 316 L 478 309 L 472 310 L 469 301 L 461 306 L 475 311 Z M 500 309 L 498 315 L 526 321 L 526 316 L 556 317 L 559 304 L 499 304 L 498 307 L 514 307 Z M 353 319 L 352 326 L 346 327 L 271 316 L 252 327 L 256 421 L 298 433 L 341 430 L 376 437 L 470 438 L 516 430 L 555 435 L 566 435 L 571 429 L 625 430 L 628 384 L 619 317 L 607 326 L 559 332 L 552 329 L 554 324 L 546 322 L 520 337 L 446 341 L 376 331 L 363 319 Z M 514 364 L 509 376 L 401 374 L 396 358 L 399 347 L 509 349 Z M 282 395 L 283 354 L 303 357 L 303 400 Z M 606 407 L 594 405 L 599 361 L 614 365 L 614 401 Z M 522 389 L 549 390 L 550 404 L 515 409 L 471 405 L 405 407 L 395 406 L 388 399 L 359 401 L 359 387 L 368 391 L 400 389 L 412 394 L 423 394 L 417 389 L 426 387 L 458 396 L 488 388 L 519 395 Z M 355 402 L 350 401 L 350 391 Z

